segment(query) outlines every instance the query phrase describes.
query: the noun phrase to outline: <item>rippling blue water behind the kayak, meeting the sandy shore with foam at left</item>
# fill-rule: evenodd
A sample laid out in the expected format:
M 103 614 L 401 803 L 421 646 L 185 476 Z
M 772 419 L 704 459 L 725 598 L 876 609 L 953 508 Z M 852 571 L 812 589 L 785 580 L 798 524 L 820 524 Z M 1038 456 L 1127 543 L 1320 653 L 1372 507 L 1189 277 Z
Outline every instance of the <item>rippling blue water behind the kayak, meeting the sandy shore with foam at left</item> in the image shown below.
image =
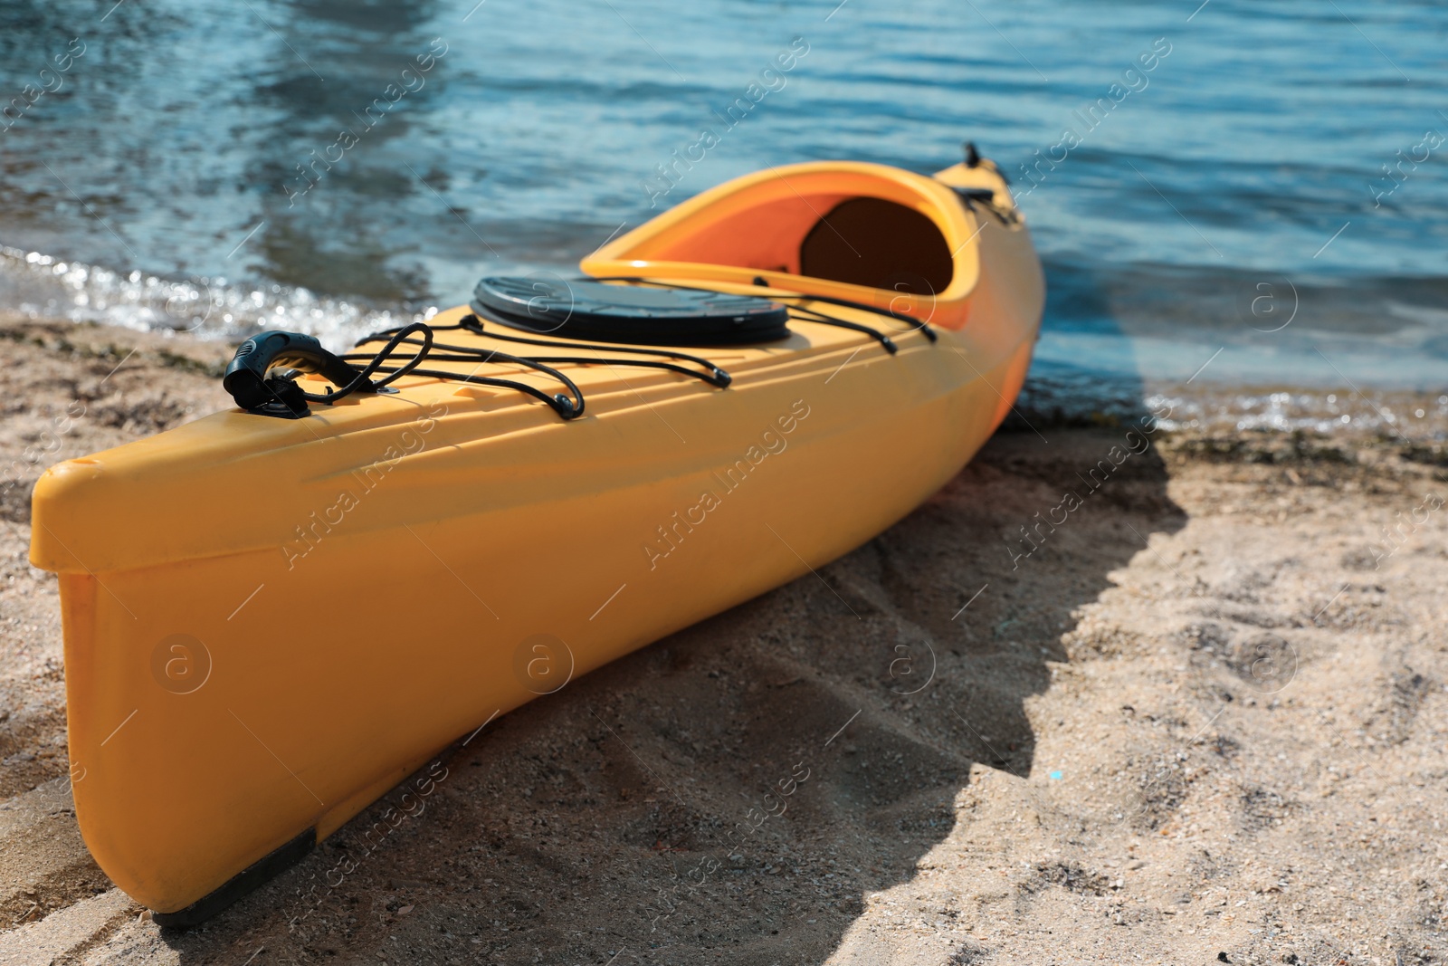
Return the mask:
M 1038 375 L 1448 381 L 1439 3 L 111 1 L 0 7 L 0 303 L 340 337 L 738 174 L 969 138 L 1047 265 Z

